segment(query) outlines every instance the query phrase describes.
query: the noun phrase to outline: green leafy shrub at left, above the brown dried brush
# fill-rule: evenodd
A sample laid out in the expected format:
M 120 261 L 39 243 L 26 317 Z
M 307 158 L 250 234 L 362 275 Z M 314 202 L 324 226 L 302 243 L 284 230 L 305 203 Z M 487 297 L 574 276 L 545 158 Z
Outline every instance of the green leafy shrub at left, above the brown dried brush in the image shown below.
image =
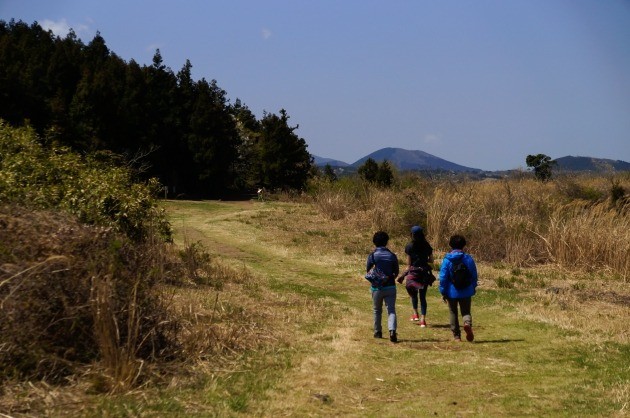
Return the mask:
M 111 226 L 134 240 L 152 230 L 170 239 L 170 226 L 157 207 L 157 180 L 134 181 L 114 155 L 82 157 L 68 148 L 44 148 L 30 128 L 0 121 L 0 203 L 60 208 L 83 223 Z

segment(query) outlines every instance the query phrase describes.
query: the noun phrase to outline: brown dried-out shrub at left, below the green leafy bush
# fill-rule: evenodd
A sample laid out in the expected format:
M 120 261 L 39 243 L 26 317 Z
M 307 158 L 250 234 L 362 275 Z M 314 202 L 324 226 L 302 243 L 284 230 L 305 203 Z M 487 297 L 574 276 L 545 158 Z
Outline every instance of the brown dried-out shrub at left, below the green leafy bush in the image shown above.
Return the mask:
M 103 360 L 115 384 L 164 356 L 157 247 L 53 211 L 0 207 L 0 376 L 60 382 Z

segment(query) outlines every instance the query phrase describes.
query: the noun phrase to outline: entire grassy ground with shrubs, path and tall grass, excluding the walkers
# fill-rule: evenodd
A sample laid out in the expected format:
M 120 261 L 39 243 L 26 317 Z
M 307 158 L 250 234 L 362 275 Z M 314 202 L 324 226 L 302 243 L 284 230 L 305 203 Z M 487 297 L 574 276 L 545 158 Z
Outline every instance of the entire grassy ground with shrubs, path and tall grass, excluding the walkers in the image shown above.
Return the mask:
M 628 413 L 627 175 L 159 202 L 114 155 L 6 125 L 0 148 L 0 413 Z M 413 224 L 438 262 L 466 235 L 475 343 L 452 341 L 435 288 L 428 328 L 400 288 L 400 343 L 372 337 L 371 236 L 402 259 Z

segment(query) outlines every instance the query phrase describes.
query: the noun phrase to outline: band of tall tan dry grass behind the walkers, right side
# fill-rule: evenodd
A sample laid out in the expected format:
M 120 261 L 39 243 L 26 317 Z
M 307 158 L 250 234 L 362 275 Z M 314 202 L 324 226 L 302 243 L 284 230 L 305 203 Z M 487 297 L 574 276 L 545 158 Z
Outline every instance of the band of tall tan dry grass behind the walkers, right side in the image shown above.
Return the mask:
M 310 196 L 325 216 L 356 228 L 406 239 L 409 227 L 420 224 L 443 251 L 449 237 L 461 233 L 479 260 L 604 270 L 627 281 L 629 191 L 627 174 L 563 176 L 546 183 L 521 175 L 483 181 L 406 179 L 391 189 L 345 179 L 316 183 Z

